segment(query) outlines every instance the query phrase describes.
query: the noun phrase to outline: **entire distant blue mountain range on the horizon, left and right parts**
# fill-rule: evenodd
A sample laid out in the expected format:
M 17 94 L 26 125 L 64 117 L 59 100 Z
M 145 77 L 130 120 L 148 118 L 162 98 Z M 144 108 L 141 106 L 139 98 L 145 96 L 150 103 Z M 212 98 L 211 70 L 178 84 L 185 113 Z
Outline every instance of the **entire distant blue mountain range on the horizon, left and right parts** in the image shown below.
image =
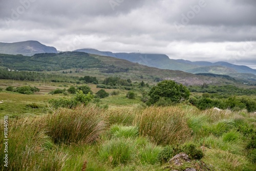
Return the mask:
M 96 49 L 77 49 L 76 52 L 85 52 L 100 56 L 110 56 L 125 59 L 140 65 L 156 67 L 159 69 L 179 70 L 188 73 L 212 73 L 229 75 L 238 78 L 247 77 L 248 74 L 256 76 L 256 70 L 247 66 L 233 65 L 228 62 L 208 62 L 208 61 L 189 61 L 184 59 L 170 59 L 165 54 L 146 54 L 146 53 L 113 53 L 109 51 L 99 51 Z M 40 44 L 38 41 L 23 41 L 14 43 L 1 43 L 0 53 L 2 54 L 22 54 L 32 56 L 38 53 L 58 53 L 56 48 Z M 247 75 L 246 75 L 247 74 Z M 252 75 L 250 75 L 251 77 Z M 254 76 L 252 76 L 254 79 Z

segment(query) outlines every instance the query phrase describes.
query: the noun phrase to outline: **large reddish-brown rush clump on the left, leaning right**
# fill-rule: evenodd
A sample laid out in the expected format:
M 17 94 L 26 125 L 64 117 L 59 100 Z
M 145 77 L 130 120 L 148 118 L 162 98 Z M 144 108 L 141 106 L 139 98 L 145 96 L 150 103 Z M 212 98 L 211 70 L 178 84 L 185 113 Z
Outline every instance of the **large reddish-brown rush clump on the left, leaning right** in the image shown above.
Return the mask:
M 42 122 L 55 143 L 92 143 L 105 128 L 102 112 L 95 106 L 80 105 L 72 110 L 59 109 L 42 118 Z

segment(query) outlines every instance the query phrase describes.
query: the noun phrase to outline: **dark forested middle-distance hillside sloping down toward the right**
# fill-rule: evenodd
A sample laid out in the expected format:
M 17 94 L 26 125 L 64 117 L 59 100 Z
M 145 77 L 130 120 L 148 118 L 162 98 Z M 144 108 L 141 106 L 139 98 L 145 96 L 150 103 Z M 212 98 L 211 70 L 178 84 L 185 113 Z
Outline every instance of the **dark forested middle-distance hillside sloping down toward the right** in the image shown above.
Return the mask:
M 62 52 L 50 54 L 35 54 L 33 56 L 0 54 L 0 66 L 12 70 L 26 71 L 78 71 L 77 74 L 91 74 L 100 77 L 119 76 L 133 80 L 163 80 L 172 79 L 185 85 L 226 82 L 232 80 L 194 75 L 182 71 L 161 70 L 115 57 L 91 55 L 83 52 Z M 60 73 L 60 72 L 58 72 Z

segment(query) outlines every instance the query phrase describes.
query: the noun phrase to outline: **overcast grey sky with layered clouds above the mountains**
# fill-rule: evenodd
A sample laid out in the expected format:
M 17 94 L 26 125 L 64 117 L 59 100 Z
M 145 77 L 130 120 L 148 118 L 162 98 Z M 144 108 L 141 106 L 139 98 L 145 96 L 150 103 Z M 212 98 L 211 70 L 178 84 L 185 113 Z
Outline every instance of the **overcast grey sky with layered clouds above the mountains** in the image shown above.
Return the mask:
M 255 0 L 0 0 L 0 42 L 256 68 Z

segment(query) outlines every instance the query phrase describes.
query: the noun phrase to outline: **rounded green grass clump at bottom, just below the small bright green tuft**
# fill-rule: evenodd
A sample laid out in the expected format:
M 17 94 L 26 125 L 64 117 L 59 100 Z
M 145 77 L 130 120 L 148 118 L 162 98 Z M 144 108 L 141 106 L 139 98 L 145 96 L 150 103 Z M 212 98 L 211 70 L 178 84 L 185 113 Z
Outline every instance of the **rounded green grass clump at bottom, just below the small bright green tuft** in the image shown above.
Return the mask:
M 130 139 L 117 138 L 102 144 L 98 151 L 99 158 L 116 167 L 129 163 L 135 156 L 135 144 Z

